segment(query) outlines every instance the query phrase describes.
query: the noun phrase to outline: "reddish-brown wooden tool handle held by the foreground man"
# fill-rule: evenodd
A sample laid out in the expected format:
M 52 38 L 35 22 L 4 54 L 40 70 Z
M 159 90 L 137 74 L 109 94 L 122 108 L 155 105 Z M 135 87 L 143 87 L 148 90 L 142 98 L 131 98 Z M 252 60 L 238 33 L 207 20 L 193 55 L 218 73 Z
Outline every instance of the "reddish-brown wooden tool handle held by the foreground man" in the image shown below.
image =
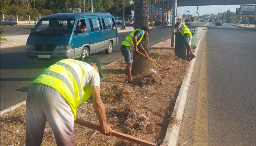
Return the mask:
M 94 130 L 97 130 L 97 131 L 101 131 L 99 125 L 84 121 L 84 120 L 79 119 L 79 118 L 76 118 L 75 123 L 79 124 L 79 125 L 82 125 L 82 126 L 85 126 L 85 127 L 88 127 L 88 128 L 91 128 L 91 129 L 94 129 Z M 121 133 L 121 132 L 114 131 L 114 130 L 112 130 L 111 135 L 114 136 L 114 137 L 124 139 L 124 140 L 128 140 L 130 142 L 135 142 L 135 143 L 143 145 L 143 146 L 156 146 L 156 144 L 153 143 L 153 142 L 142 140 L 142 139 L 139 139 L 137 137 L 133 137 L 133 136 Z

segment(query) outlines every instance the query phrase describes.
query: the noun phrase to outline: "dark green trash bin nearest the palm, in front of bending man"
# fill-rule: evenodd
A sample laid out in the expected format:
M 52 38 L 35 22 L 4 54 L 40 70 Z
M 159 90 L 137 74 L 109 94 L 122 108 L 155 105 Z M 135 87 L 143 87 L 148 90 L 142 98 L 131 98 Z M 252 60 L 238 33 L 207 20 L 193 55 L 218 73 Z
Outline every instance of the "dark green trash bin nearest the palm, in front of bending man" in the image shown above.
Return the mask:
M 187 57 L 187 49 L 185 45 L 185 40 L 180 32 L 174 32 L 175 34 L 175 49 L 174 53 L 180 58 Z

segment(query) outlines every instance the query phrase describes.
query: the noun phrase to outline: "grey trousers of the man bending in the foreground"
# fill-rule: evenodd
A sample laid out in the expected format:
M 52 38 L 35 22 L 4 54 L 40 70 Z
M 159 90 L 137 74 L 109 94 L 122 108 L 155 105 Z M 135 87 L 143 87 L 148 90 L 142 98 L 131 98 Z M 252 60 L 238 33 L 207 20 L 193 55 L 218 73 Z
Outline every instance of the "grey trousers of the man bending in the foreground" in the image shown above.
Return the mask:
M 74 115 L 68 102 L 55 89 L 33 83 L 26 101 L 26 146 L 40 146 L 46 120 L 58 146 L 74 145 Z

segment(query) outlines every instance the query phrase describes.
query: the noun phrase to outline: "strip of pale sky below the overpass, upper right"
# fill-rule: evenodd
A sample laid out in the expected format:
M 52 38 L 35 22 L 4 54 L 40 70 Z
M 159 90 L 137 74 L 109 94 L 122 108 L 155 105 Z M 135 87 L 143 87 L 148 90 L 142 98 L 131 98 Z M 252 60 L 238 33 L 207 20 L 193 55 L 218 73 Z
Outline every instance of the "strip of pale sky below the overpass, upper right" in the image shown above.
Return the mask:
M 217 14 L 223 13 L 224 11 L 227 12 L 227 10 L 230 10 L 231 12 L 236 12 L 236 8 L 240 8 L 240 5 L 217 5 L 217 6 L 199 6 L 198 7 L 198 13 L 199 16 L 204 14 Z M 177 7 L 177 15 L 178 14 L 192 14 L 196 15 L 196 9 L 197 6 L 179 6 Z M 190 11 L 190 12 L 187 12 Z

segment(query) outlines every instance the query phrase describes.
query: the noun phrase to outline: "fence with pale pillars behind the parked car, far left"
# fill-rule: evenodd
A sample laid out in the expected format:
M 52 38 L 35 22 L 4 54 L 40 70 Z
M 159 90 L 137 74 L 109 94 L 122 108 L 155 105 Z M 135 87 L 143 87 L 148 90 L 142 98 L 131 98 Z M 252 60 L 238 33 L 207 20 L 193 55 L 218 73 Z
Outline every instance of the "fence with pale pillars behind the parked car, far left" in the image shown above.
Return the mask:
M 42 15 L 4 15 L 1 14 L 1 19 L 14 19 L 18 24 L 33 24 L 34 21 L 40 20 Z

